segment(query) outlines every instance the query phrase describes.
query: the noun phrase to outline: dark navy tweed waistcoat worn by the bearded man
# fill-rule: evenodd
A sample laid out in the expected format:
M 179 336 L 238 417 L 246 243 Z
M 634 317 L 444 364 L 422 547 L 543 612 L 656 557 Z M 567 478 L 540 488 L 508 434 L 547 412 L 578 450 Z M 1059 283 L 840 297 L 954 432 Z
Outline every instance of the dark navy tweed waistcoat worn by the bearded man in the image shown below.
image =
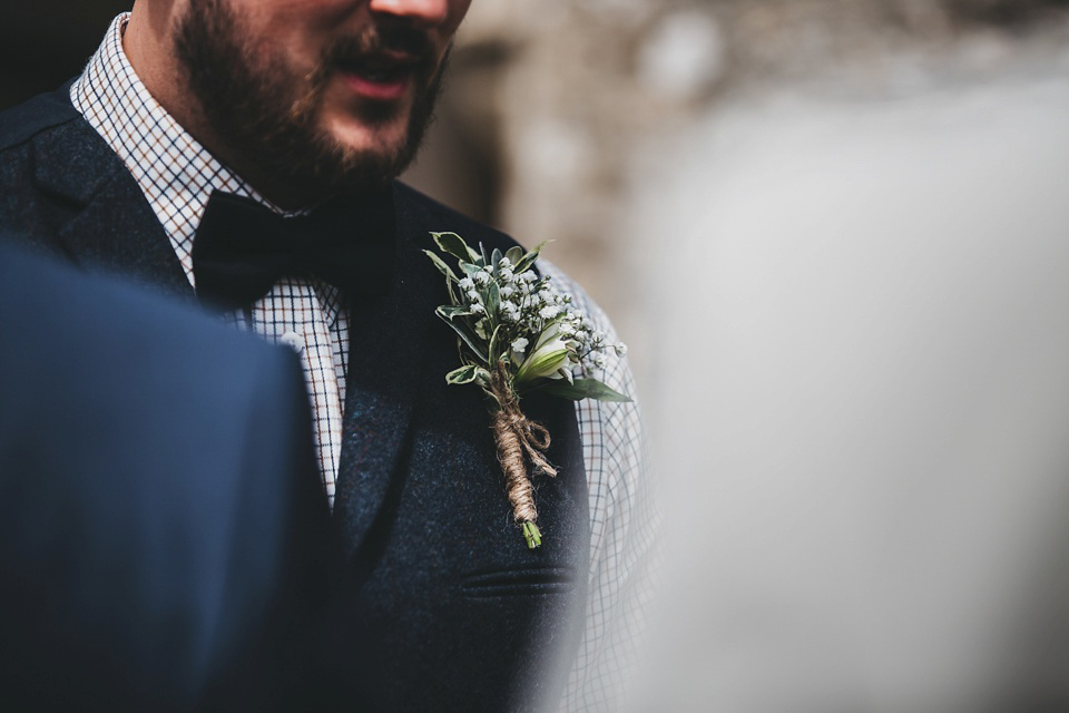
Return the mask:
M 334 510 L 347 584 L 315 705 L 529 710 L 553 697 L 549 668 L 571 657 L 581 631 L 589 527 L 573 406 L 524 399 L 560 467 L 537 484 L 545 544 L 528 550 L 479 390 L 445 384 L 457 349 L 433 312 L 448 295 L 421 253 L 430 231 L 514 243 L 401 184 L 394 203 L 394 284 L 351 307 Z M 194 300 L 140 189 L 66 88 L 0 114 L 0 226 L 87 270 Z

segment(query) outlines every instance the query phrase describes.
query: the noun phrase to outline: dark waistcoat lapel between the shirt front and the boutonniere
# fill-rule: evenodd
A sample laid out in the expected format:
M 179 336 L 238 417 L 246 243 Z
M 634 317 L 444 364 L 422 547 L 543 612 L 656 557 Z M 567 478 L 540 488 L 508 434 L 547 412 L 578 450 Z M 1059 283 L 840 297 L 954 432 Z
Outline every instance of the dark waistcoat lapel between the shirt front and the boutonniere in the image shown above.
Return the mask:
M 403 482 L 394 477 L 411 439 L 424 344 L 443 300 L 439 273 L 421 252 L 425 219 L 394 191 L 396 246 L 390 290 L 351 305 L 342 457 L 334 517 L 350 555 L 375 547 L 376 517 Z

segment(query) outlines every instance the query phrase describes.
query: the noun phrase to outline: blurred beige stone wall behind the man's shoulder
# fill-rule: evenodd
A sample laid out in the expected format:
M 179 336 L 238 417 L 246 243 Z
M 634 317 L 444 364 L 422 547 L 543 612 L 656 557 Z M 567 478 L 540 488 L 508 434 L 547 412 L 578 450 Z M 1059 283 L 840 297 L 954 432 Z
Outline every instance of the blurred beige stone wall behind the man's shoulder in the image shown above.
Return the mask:
M 409 179 L 577 277 L 636 346 L 637 277 L 670 234 L 637 235 L 634 206 L 673 173 L 676 139 L 747 92 L 880 95 L 944 71 L 994 71 L 1065 43 L 1065 0 L 475 0 L 439 125 Z M 1022 36 L 1040 38 L 1022 45 Z M 1046 40 L 1043 39 L 1046 38 Z M 1039 50 L 1042 53 L 1042 49 Z M 715 167 L 710 167 L 714 170 Z

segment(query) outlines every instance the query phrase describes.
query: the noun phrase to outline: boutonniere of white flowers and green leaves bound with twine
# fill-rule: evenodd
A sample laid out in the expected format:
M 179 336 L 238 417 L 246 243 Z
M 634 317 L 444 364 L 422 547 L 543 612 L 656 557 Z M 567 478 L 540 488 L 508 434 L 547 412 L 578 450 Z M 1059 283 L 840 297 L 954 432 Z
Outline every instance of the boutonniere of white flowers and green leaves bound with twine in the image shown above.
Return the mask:
M 546 458 L 549 431 L 523 414 L 520 399 L 538 391 L 577 401 L 630 401 L 589 375 L 592 367 L 605 365 L 609 349 L 622 356 L 626 348 L 607 343 L 570 295 L 534 273 L 545 243 L 528 253 L 512 247 L 487 254 L 455 233 L 431 235 L 443 255 L 424 252 L 445 275 L 450 297 L 435 313 L 457 333 L 461 362 L 445 381 L 477 384 L 486 393 L 513 518 L 527 546 L 538 547 L 542 536 L 528 462 L 534 473 L 553 477 L 557 469 Z M 455 258 L 455 270 L 443 256 Z

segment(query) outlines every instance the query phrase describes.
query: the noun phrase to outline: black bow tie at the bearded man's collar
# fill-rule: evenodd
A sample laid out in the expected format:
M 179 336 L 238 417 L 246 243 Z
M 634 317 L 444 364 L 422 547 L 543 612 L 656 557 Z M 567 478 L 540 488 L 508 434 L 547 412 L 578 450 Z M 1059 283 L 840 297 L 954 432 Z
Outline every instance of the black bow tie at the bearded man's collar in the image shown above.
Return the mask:
M 193 243 L 193 273 L 200 301 L 224 310 L 253 304 L 282 277 L 320 277 L 355 297 L 386 291 L 393 252 L 389 187 L 291 217 L 216 191 Z

